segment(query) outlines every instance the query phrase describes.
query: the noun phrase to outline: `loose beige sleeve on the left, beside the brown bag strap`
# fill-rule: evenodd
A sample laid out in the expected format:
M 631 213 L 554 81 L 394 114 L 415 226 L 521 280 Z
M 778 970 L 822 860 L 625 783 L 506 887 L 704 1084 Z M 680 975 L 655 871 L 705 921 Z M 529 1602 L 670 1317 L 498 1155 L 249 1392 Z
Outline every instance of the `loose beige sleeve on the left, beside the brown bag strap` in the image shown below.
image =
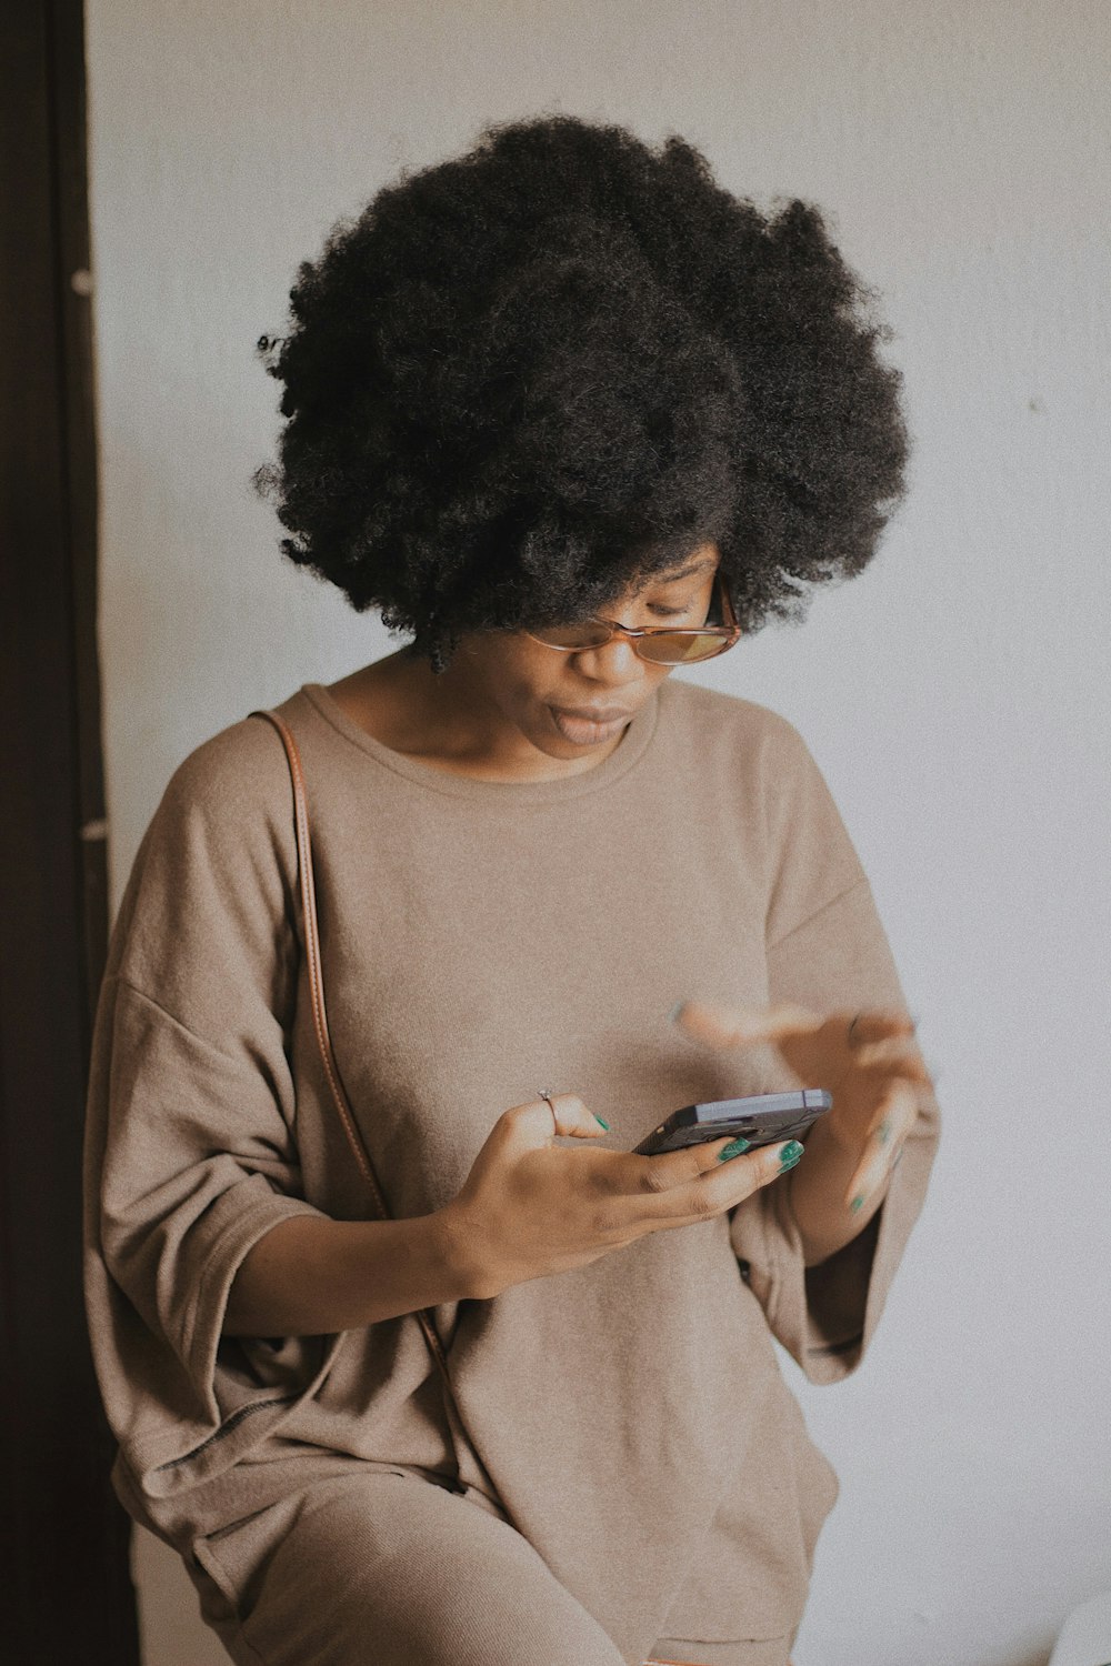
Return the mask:
M 93 1033 L 85 1278 L 108 1418 L 168 1494 L 228 1468 L 326 1369 L 328 1338 L 222 1336 L 235 1273 L 301 1195 L 286 1043 L 296 875 L 278 738 L 177 771 L 113 930 Z

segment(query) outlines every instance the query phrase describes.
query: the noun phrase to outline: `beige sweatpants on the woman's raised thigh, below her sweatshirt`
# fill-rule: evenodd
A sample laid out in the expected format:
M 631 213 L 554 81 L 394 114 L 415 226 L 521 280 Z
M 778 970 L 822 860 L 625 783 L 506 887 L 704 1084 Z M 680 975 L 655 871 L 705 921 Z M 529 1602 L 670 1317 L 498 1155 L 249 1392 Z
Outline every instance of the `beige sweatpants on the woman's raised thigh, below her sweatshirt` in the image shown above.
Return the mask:
M 203 1541 L 202 1614 L 237 1666 L 641 1666 L 515 1528 L 411 1474 L 318 1483 Z M 272 1516 L 272 1511 L 265 1511 Z M 658 1661 L 786 1666 L 791 1638 L 658 1638 Z

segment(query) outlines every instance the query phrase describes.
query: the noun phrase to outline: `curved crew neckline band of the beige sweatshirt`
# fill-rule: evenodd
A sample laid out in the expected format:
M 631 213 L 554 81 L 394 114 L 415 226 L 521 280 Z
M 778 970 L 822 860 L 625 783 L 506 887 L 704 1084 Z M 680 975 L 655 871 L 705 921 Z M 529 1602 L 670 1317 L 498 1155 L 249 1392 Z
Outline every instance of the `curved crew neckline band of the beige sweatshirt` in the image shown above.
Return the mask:
M 428 791 L 443 793 L 448 798 L 545 805 L 560 803 L 568 798 L 585 798 L 588 793 L 598 793 L 628 775 L 640 763 L 656 733 L 660 690 L 665 686 L 661 683 L 653 690 L 651 696 L 630 720 L 620 743 L 601 763 L 596 763 L 593 770 L 583 770 L 580 775 L 548 781 L 483 781 L 473 775 L 451 775 L 448 770 L 436 770 L 430 763 L 421 763 L 420 758 L 393 751 L 391 746 L 385 746 L 380 740 L 375 740 L 373 735 L 346 715 L 323 683 L 303 683 L 300 693 L 338 735 L 353 746 L 358 746 L 361 753 L 393 771 L 393 775 L 401 775 Z

